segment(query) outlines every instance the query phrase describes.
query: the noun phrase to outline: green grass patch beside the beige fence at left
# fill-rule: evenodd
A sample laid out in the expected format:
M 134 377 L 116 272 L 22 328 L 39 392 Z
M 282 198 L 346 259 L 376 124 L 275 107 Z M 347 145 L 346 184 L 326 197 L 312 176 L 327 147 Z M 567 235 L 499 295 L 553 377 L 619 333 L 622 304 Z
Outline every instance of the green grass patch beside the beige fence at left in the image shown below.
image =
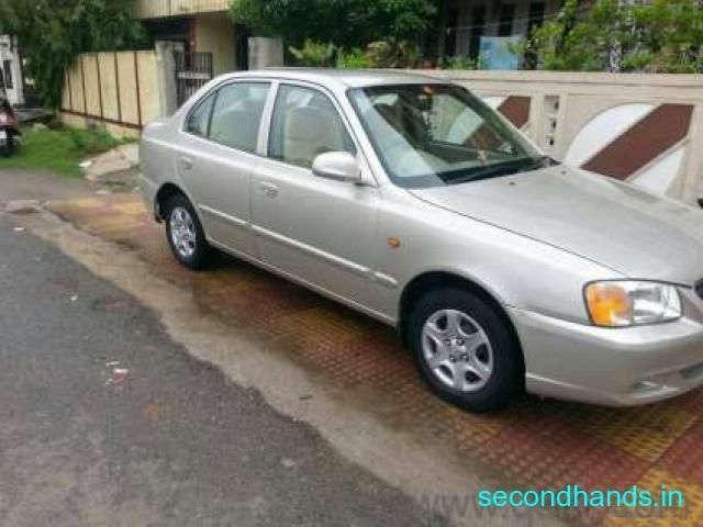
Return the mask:
M 23 131 L 22 143 L 10 158 L 0 158 L 3 168 L 44 169 L 77 178 L 82 175 L 78 164 L 86 158 L 123 144 L 102 130 L 78 130 L 63 126 L 55 130 Z

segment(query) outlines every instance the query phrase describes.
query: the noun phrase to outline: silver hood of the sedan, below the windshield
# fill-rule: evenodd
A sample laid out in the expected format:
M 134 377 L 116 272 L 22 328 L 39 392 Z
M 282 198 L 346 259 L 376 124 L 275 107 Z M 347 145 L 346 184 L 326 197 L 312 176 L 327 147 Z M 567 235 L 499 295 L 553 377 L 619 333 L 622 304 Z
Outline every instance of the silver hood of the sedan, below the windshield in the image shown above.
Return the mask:
M 555 166 L 411 192 L 631 278 L 691 285 L 703 277 L 703 212 L 583 170 Z

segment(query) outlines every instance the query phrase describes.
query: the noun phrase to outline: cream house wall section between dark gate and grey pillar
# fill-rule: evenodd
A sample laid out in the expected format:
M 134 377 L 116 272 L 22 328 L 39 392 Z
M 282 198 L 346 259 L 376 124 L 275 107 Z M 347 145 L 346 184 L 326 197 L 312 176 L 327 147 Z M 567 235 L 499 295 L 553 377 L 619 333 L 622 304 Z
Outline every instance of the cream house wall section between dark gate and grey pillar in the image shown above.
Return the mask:
M 199 14 L 194 18 L 194 51 L 212 53 L 214 75 L 235 69 L 234 24 L 226 13 Z

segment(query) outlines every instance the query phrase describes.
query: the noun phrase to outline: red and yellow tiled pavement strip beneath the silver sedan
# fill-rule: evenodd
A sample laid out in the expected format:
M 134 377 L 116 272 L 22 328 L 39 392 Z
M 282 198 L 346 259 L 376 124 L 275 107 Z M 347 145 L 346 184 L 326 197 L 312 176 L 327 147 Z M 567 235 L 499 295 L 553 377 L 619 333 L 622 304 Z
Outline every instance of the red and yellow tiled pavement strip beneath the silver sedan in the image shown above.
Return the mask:
M 666 483 L 685 493 L 685 514 L 639 519 L 587 511 L 578 519 L 703 525 L 703 391 L 631 410 L 526 397 L 501 415 L 469 415 L 432 396 L 393 333 L 376 322 L 239 261 L 225 259 L 208 273 L 180 268 L 137 197 L 56 202 L 52 209 L 81 229 L 137 251 L 159 274 L 191 288 L 203 310 L 345 386 L 352 400 L 389 426 L 438 452 L 458 453 L 495 485 L 637 483 L 658 491 Z

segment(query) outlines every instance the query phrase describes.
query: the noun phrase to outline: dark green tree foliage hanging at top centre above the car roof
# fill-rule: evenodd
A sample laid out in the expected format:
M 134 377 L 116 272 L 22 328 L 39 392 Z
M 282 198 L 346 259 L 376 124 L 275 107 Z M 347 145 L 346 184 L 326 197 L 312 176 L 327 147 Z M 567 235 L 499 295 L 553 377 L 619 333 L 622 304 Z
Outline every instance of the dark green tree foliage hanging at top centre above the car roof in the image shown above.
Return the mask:
M 386 38 L 419 43 L 437 24 L 436 0 L 232 0 L 232 16 L 288 45 L 305 40 L 345 48 Z

